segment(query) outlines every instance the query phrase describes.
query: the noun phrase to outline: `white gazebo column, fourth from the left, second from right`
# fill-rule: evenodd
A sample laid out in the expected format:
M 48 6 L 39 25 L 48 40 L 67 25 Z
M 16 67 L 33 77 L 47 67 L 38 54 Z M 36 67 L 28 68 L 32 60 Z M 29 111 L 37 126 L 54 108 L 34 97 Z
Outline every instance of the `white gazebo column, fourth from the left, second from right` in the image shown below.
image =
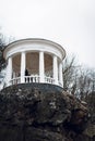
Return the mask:
M 54 79 L 55 85 L 58 85 L 58 59 L 54 55 Z

